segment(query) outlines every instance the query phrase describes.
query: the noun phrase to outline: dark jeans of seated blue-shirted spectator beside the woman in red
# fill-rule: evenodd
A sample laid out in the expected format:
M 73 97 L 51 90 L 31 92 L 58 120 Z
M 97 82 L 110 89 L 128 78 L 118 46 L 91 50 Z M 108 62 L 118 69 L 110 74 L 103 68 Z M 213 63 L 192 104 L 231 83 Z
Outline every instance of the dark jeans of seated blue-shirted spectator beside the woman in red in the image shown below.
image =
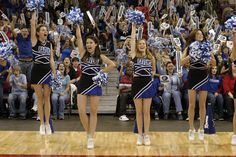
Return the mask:
M 219 115 L 219 118 L 223 118 L 224 99 L 222 94 L 215 96 L 214 93 L 208 92 L 207 102 L 212 105 L 213 115 L 217 114 Z

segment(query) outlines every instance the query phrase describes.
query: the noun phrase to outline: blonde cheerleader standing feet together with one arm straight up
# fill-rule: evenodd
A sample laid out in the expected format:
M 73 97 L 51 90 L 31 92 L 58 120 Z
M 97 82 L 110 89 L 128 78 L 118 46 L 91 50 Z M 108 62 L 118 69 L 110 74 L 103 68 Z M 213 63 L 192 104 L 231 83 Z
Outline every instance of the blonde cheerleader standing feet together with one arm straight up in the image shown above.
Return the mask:
M 132 24 L 131 33 L 131 52 L 134 72 L 131 94 L 134 99 L 136 109 L 136 119 L 138 126 L 137 145 L 150 145 L 149 125 L 150 125 L 150 107 L 154 88 L 152 85 L 152 75 L 155 73 L 155 59 L 148 51 L 147 42 L 141 39 L 135 40 L 136 25 Z M 144 133 L 142 126 L 144 124 Z

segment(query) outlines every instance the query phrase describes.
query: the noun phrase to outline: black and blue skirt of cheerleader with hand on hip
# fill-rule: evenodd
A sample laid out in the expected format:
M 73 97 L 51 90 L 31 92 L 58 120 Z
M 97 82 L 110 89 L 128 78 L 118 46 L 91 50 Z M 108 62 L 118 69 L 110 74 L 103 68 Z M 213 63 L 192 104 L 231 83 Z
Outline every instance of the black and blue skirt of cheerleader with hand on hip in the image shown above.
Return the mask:
M 102 96 L 102 88 L 95 84 L 92 78 L 93 76 L 82 74 L 77 86 L 78 94 L 87 96 Z

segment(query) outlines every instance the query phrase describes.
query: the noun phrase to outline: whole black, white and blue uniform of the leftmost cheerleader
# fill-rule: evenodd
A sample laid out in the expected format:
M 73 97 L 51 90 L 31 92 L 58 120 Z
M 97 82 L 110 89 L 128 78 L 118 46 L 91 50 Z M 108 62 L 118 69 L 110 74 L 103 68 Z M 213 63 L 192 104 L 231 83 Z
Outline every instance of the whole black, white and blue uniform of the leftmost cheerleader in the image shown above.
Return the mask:
M 33 49 L 33 69 L 31 71 L 31 84 L 48 84 L 51 82 L 50 53 L 51 43 L 42 43 L 39 40 Z

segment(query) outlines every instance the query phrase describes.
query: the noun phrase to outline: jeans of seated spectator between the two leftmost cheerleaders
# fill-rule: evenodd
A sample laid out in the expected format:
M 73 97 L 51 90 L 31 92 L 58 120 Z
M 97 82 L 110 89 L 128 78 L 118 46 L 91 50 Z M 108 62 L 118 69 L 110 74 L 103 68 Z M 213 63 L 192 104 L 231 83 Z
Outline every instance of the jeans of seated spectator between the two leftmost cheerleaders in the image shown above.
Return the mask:
M 69 95 L 61 96 L 59 93 L 52 93 L 51 98 L 53 116 L 64 118 L 65 101 L 69 98 Z

